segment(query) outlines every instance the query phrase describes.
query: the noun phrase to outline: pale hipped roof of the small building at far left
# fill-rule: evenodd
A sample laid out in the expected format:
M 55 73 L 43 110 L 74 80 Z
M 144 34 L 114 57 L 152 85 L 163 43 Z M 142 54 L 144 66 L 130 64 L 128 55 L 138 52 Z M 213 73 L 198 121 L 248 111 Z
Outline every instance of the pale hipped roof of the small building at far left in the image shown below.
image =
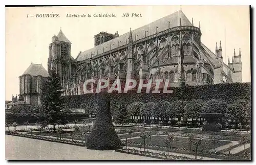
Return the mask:
M 23 75 L 30 74 L 31 76 L 41 75 L 42 77 L 48 77 L 49 74 L 47 70 L 41 64 L 33 64 L 31 63 L 29 67 L 25 70 Z

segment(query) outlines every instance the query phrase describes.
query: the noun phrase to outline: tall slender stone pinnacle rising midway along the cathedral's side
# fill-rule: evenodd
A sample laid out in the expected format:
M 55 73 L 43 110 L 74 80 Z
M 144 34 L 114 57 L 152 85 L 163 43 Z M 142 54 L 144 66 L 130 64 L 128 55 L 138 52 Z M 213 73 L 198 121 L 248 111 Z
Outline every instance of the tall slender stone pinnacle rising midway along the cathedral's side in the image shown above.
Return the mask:
M 130 28 L 129 43 L 127 48 L 127 73 L 126 80 L 134 78 L 134 52 L 133 52 L 133 35 L 132 29 Z

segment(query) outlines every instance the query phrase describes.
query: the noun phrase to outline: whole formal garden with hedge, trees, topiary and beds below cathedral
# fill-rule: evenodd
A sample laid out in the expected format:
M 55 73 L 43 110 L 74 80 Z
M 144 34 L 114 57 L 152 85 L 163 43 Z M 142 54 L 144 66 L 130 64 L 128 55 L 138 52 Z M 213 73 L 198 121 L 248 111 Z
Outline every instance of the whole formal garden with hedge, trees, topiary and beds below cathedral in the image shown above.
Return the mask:
M 170 95 L 61 97 L 56 73 L 50 75 L 41 106 L 15 107 L 6 114 L 6 134 L 160 159 L 250 159 L 248 83 L 178 87 Z

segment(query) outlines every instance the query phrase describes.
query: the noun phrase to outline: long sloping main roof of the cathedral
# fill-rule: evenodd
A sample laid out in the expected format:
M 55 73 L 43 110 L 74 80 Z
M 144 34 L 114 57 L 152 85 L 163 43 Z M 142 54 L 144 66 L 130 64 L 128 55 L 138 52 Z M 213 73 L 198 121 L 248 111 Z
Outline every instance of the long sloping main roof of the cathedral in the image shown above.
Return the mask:
M 132 31 L 133 38 L 135 38 L 135 35 L 136 35 L 136 40 L 144 38 L 145 31 L 147 31 L 146 36 L 156 34 L 156 27 L 158 27 L 157 29 L 158 33 L 161 31 L 164 31 L 168 29 L 168 21 L 170 21 L 169 28 L 178 27 L 180 26 L 180 19 L 181 19 L 182 26 L 192 26 L 191 22 L 187 19 L 185 14 L 180 10 L 173 14 L 160 18 L 152 23 L 149 23 L 148 25 L 145 25 L 143 27 L 133 30 Z M 130 32 L 128 31 L 127 33 L 120 35 L 119 37 L 116 37 L 112 40 L 99 44 L 87 51 L 81 52 L 76 59 L 77 61 L 85 60 L 87 58 L 96 56 L 97 52 L 98 54 L 101 54 L 103 53 L 103 50 L 104 52 L 106 52 L 106 51 L 110 51 L 111 49 L 118 48 L 119 46 L 125 45 L 126 43 L 129 42 L 129 34 Z

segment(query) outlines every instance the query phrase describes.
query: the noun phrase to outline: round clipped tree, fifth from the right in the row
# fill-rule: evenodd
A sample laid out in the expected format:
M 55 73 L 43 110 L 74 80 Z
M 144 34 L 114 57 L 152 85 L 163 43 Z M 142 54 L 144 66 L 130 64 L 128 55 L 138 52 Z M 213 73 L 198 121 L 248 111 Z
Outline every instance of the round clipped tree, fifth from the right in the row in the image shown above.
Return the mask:
M 169 102 L 167 101 L 158 101 L 156 104 L 152 107 L 152 115 L 154 117 L 157 117 L 159 120 L 159 117 L 166 117 L 166 110 L 169 106 Z

